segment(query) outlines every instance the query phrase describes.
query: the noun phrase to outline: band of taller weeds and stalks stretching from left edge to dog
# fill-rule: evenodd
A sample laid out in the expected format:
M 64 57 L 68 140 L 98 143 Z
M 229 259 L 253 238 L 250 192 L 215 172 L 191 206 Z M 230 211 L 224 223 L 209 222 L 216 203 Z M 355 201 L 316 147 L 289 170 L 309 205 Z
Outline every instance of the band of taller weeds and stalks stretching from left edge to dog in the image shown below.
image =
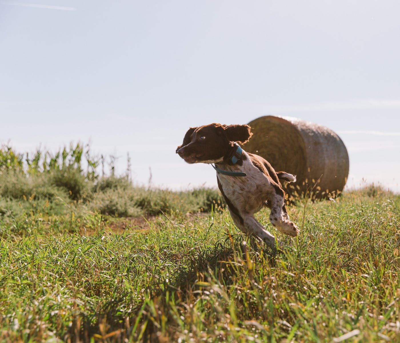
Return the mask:
M 20 205 L 18 210 L 18 206 L 11 204 L 12 200 L 21 203 L 30 198 L 59 206 L 57 213 L 70 199 L 80 211 L 88 209 L 116 217 L 212 211 L 225 206 L 215 189 L 173 192 L 134 186 L 129 174 L 115 175 L 115 157 L 110 158 L 111 175 L 100 177 L 96 169 L 100 159 L 92 158 L 89 146 L 79 143 L 70 144 L 69 149 L 64 147 L 56 154 L 42 150 L 16 154 L 8 146 L 0 152 L 5 166 L 0 172 L 0 196 L 7 199 L 7 208 L 12 208 L 12 213 L 18 216 L 26 208 Z M 25 163 L 22 156 L 26 156 Z M 88 166 L 86 173 L 82 170 L 83 158 Z M 104 156 L 101 161 L 104 162 Z M 64 202 L 55 201 L 57 198 Z

